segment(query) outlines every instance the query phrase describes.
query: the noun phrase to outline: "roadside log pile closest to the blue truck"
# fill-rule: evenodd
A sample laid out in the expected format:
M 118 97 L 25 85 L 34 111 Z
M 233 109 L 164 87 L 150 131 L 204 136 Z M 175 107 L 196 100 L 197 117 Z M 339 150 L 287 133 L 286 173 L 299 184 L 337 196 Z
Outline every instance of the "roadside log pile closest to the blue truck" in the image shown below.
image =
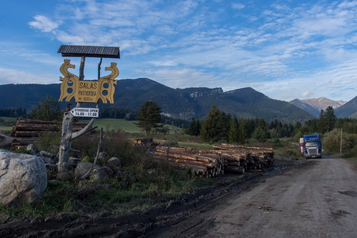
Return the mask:
M 225 170 L 241 173 L 241 170 L 259 170 L 261 167 L 274 163 L 273 148 L 247 147 L 240 145 L 221 144 L 213 146 L 220 151 L 222 159 L 227 161 Z

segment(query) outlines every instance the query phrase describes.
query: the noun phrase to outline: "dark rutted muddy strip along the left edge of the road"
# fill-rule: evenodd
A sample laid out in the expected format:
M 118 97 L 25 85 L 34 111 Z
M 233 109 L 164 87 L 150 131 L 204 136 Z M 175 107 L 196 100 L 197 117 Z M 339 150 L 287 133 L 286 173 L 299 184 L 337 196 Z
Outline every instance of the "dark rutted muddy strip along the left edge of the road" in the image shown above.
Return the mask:
M 282 162 L 293 164 L 291 160 Z M 275 168 L 271 167 L 269 174 L 246 173 L 233 182 L 218 182 L 214 187 L 156 205 L 141 214 L 58 213 L 47 218 L 15 219 L 0 225 L 0 237 L 200 237 L 219 226 L 212 211 L 225 206 L 240 193 L 251 191 L 267 177 L 283 174 L 283 170 L 275 171 Z

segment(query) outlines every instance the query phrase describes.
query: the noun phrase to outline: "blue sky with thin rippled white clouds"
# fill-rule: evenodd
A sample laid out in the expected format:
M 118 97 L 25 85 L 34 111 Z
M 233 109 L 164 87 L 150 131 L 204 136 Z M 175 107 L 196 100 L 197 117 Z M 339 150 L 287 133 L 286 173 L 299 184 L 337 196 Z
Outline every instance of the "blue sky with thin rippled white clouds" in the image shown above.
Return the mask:
M 252 87 L 286 101 L 357 95 L 357 1 L 20 0 L 1 8 L 0 84 L 60 83 L 60 45 L 92 45 L 120 47 L 118 79 Z M 80 58 L 70 59 L 78 75 Z M 98 63 L 86 59 L 85 79 L 96 79 Z

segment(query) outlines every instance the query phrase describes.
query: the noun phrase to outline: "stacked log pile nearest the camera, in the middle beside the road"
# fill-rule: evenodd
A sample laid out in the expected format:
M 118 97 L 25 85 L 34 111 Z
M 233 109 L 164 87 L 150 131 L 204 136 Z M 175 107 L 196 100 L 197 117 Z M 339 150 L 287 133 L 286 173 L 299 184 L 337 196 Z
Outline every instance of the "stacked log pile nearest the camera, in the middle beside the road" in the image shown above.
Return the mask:
M 214 177 L 224 173 L 221 152 L 192 148 L 170 148 L 157 146 L 154 158 L 165 160 L 178 168 L 189 167 L 197 176 Z

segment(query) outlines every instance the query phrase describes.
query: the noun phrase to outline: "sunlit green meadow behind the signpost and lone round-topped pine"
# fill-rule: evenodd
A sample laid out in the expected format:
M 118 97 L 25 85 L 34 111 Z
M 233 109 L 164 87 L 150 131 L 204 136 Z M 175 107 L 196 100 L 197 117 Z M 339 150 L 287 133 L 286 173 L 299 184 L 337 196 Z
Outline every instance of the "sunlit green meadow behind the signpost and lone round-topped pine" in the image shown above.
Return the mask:
M 80 120 L 80 122 L 89 122 L 89 121 L 90 120 Z M 139 127 L 133 124 L 133 122 L 136 121 L 127 121 L 125 119 L 103 118 L 103 119 L 96 119 L 94 122 L 94 126 L 98 126 L 99 129 L 102 127 L 103 130 L 106 130 L 107 125 L 109 124 L 110 130 L 119 128 L 129 133 L 140 133 Z M 167 125 L 167 126 L 169 126 L 170 128 L 169 132 L 171 134 L 174 134 L 174 130 L 177 130 L 177 132 L 181 132 L 182 130 L 181 128 L 178 128 L 176 126 L 172 126 L 172 125 Z

